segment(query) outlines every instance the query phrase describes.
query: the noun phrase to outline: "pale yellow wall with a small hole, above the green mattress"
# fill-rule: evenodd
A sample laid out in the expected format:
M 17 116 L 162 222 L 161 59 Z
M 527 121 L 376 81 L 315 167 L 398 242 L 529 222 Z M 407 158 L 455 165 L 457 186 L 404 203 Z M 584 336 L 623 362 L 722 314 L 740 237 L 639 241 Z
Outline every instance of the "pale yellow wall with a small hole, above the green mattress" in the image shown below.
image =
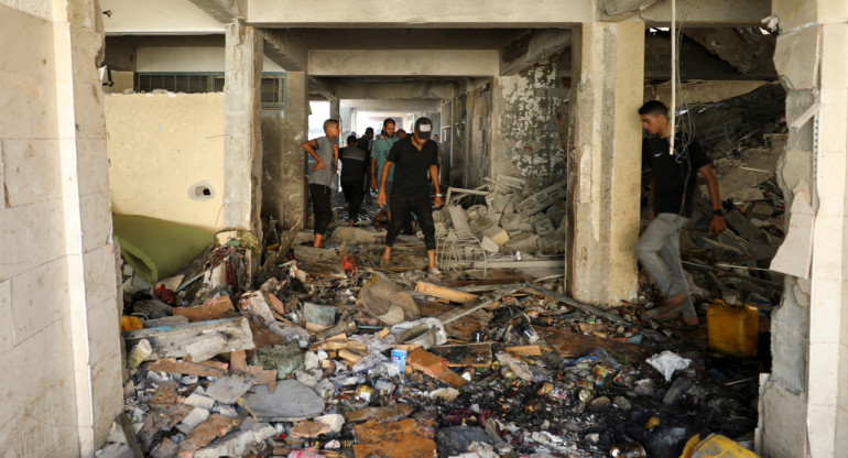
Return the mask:
M 224 94 L 106 97 L 112 211 L 221 229 Z M 188 189 L 206 181 L 208 200 Z

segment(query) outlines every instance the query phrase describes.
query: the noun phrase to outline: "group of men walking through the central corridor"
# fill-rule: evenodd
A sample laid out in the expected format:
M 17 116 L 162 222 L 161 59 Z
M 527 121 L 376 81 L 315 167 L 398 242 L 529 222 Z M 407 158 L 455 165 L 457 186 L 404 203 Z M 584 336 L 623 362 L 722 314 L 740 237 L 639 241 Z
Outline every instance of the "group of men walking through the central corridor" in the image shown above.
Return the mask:
M 438 135 L 433 134 L 433 121 L 418 118 L 411 134 L 395 131 L 395 121 L 383 121 L 382 131 L 373 139 L 373 129 L 365 135 L 347 138 L 347 146 L 339 151 L 336 139 L 340 134 L 339 121 L 324 121 L 324 137 L 303 144 L 315 164 L 309 170 L 309 196 L 315 215 L 313 246 L 320 247 L 327 227 L 333 221 L 333 176 L 341 161 L 340 183 L 348 204 L 348 222 L 354 226 L 362 200 L 371 189 L 378 190 L 377 203 L 380 212 L 376 226 L 385 217 L 389 221 L 381 265 L 391 262 L 391 250 L 410 215 L 414 215 L 424 233 L 427 248 L 427 269 L 438 274 L 436 269 L 436 235 L 433 222 L 433 206 L 442 205 L 438 172 L 441 146 Z M 329 164 L 329 166 L 328 166 Z M 331 167 L 331 170 L 330 170 Z M 394 177 L 399 179 L 395 181 Z M 430 183 L 435 189 L 435 199 L 431 199 Z

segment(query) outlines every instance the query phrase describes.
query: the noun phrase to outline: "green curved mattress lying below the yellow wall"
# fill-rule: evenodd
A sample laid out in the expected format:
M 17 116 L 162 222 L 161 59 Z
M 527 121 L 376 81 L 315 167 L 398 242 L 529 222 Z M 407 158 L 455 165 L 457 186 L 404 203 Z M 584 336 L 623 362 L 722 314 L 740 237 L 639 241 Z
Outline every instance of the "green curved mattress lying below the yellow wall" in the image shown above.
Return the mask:
M 148 283 L 178 271 L 213 243 L 211 232 L 138 215 L 112 215 L 121 257 Z

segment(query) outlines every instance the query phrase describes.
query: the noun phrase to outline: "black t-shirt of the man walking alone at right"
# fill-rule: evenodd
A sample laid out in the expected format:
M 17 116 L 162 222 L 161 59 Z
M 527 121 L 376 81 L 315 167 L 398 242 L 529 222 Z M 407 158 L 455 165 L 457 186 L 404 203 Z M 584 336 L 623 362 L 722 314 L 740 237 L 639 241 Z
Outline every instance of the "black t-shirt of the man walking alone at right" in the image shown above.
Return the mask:
M 711 161 L 694 139 L 685 145 L 677 135 L 674 151 L 668 154 L 667 138 L 652 137 L 642 142 L 642 154 L 648 157 L 654 177 L 654 212 L 689 218 L 698 187 L 697 172 Z

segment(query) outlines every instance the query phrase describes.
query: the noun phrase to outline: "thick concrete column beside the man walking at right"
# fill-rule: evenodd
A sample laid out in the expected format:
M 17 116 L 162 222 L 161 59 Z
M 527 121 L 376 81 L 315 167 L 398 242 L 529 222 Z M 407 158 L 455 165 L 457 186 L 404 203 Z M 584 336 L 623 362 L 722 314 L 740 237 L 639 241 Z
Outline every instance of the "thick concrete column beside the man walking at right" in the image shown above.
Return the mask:
M 615 305 L 637 290 L 644 23 L 585 23 L 572 33 L 566 279 L 578 301 Z

